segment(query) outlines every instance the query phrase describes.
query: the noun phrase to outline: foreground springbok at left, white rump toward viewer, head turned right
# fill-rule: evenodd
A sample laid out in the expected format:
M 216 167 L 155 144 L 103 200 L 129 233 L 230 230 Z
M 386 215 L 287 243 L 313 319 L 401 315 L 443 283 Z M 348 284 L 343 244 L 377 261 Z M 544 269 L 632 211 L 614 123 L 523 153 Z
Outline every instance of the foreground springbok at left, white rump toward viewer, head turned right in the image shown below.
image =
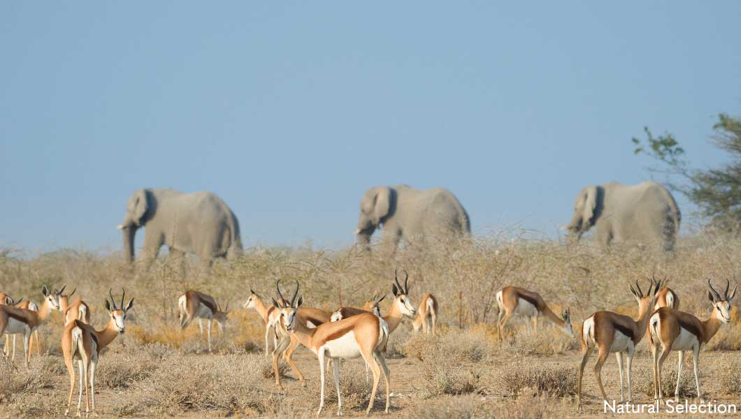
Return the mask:
M 78 319 L 73 319 L 70 324 L 64 326 L 64 332 L 62 332 L 62 354 L 64 355 L 64 365 L 67 366 L 67 371 L 70 372 L 70 397 L 67 398 L 67 410 L 64 411 L 64 416 L 70 413 L 72 395 L 75 391 L 75 368 L 72 363 L 74 360 L 77 360 L 80 375 L 80 395 L 77 399 L 77 415 L 80 415 L 83 387 L 85 389 L 85 414 L 87 415 L 90 412 L 90 396 L 92 396 L 93 415 L 98 415 L 95 406 L 95 372 L 98 366 L 100 352 L 104 347 L 113 342 L 113 339 L 116 339 L 119 333 L 123 333 L 126 330 L 126 313 L 134 304 L 134 299 L 131 298 L 129 303 L 124 307 L 124 296 L 126 292 L 123 289 L 122 291 L 121 304 L 118 307 L 116 306 L 116 301 L 113 300 L 110 290 L 108 291 L 110 301 L 105 300 L 105 309 L 108 310 L 110 321 L 108 321 L 105 329 L 96 330 L 93 326 L 84 324 Z M 89 390 L 88 381 L 90 383 Z

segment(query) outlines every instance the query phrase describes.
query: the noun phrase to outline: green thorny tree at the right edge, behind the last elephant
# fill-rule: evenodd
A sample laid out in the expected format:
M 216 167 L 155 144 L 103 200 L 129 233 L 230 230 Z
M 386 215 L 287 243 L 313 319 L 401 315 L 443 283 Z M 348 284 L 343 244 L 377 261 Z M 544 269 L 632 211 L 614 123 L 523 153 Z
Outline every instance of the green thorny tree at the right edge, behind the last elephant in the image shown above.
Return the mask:
M 722 113 L 713 125 L 713 143 L 730 155 L 729 163 L 717 169 L 691 169 L 674 135 L 654 136 L 648 127 L 644 130 L 645 141 L 632 139 L 634 152 L 660 161 L 663 167 L 651 170 L 666 175 L 668 187 L 696 204 L 711 224 L 737 231 L 741 225 L 741 117 Z

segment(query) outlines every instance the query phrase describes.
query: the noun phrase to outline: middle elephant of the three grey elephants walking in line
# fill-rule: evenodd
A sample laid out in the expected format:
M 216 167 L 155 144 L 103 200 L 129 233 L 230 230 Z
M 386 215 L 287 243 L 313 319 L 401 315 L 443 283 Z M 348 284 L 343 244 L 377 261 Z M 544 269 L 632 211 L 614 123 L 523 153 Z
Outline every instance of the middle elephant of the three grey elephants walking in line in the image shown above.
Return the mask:
M 387 252 L 394 252 L 402 239 L 423 241 L 425 235 L 438 238 L 469 235 L 471 221 L 449 190 L 416 190 L 407 185 L 373 187 L 360 200 L 358 243 L 369 249 L 371 235 L 382 227 Z

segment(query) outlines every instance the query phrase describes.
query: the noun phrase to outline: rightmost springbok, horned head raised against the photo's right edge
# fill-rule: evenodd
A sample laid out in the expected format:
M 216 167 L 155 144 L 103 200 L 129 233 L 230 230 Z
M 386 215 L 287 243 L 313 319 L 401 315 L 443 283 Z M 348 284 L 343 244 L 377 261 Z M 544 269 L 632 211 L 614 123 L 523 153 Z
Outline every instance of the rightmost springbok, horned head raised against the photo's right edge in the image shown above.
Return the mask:
M 654 399 L 659 403 L 663 401 L 661 369 L 671 351 L 679 352 L 677 388 L 674 390 L 674 400 L 679 401 L 679 378 L 682 376 L 685 352 L 692 351 L 697 398 L 700 398 L 700 403 L 705 403 L 705 399 L 702 398 L 700 392 L 700 375 L 698 373 L 700 369 L 698 366 L 700 348 L 713 338 L 722 324 L 731 321 L 731 300 L 736 296 L 737 286 L 734 286 L 734 291 L 731 292 L 731 295 L 728 295 L 728 288 L 730 287 L 731 281 L 725 280 L 725 292 L 721 297 L 708 279 L 708 299 L 713 303 L 713 311 L 706 321 L 701 321 L 694 315 L 668 307 L 662 307 L 651 315 L 651 320 L 648 323 L 651 355 L 653 355 L 651 366 L 654 369 Z M 661 346 L 660 358 L 659 346 Z

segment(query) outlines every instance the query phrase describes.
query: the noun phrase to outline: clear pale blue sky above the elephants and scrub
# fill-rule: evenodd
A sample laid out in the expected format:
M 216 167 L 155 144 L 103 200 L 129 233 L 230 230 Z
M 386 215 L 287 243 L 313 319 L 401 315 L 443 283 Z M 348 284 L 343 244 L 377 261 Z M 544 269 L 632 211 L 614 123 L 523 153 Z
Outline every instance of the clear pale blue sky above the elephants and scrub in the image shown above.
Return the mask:
M 3 1 L 0 247 L 120 249 L 141 187 L 218 193 L 245 246 L 350 244 L 362 193 L 396 183 L 447 187 L 476 234 L 551 235 L 586 184 L 650 177 L 630 144 L 645 125 L 697 167 L 722 161 L 708 140 L 741 113 L 739 16 L 739 1 Z

